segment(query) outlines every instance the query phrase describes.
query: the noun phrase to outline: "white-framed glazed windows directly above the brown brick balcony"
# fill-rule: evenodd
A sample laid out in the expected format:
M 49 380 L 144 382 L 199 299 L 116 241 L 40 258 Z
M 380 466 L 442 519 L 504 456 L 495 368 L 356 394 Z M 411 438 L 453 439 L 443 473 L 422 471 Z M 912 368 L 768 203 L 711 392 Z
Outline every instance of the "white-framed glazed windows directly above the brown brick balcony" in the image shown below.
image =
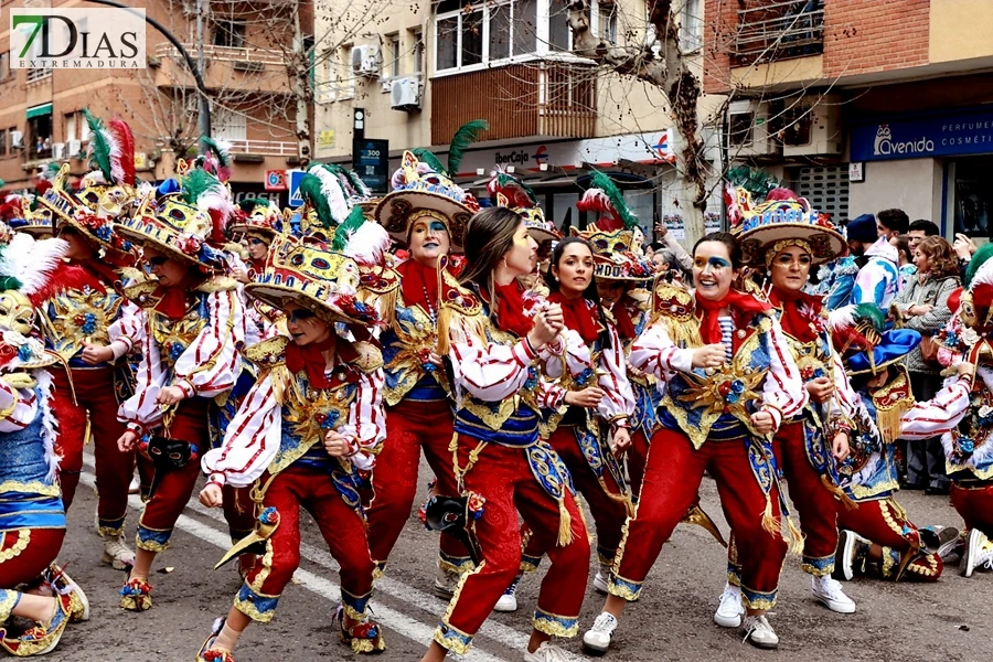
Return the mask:
M 495 0 L 466 7 L 460 0 L 441 0 L 437 11 L 437 71 L 489 64 L 537 51 L 537 0 Z M 565 28 L 568 35 L 568 24 Z

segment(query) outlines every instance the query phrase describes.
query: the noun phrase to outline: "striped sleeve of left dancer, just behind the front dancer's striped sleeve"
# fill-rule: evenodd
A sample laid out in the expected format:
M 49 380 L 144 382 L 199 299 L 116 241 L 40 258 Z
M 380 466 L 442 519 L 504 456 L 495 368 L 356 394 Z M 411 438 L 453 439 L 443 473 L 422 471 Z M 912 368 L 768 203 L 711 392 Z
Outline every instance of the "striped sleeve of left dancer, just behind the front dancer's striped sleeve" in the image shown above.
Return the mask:
M 175 361 L 173 384 L 188 397 L 213 397 L 232 388 L 237 380 L 245 342 L 244 310 L 236 290 L 211 292 L 210 322 Z

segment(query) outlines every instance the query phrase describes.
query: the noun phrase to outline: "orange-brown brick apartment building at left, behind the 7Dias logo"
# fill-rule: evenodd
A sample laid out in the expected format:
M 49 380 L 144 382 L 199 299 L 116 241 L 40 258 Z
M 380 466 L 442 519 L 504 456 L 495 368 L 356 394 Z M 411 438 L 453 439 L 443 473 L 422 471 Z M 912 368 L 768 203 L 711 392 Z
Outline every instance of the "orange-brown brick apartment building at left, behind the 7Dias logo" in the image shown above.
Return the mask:
M 266 190 L 268 171 L 299 163 L 298 94 L 288 74 L 295 35 L 311 39 L 309 3 L 299 0 L 151 0 L 156 19 L 193 57 L 202 52 L 211 96 L 212 135 L 231 146 L 236 199 L 287 193 Z M 202 49 L 196 40 L 197 6 Z M 200 96 L 179 51 L 147 26 L 147 68 L 14 70 L 10 66 L 11 7 L 94 8 L 81 0 L 4 1 L 0 20 L 0 180 L 4 193 L 32 191 L 51 162 L 67 161 L 74 175 L 89 168 L 83 108 L 127 121 L 135 134 L 140 178 L 173 174 L 177 159 L 196 153 Z M 310 102 L 306 99 L 309 126 Z M 309 145 L 309 137 L 305 136 Z M 279 186 L 276 186 L 279 188 Z

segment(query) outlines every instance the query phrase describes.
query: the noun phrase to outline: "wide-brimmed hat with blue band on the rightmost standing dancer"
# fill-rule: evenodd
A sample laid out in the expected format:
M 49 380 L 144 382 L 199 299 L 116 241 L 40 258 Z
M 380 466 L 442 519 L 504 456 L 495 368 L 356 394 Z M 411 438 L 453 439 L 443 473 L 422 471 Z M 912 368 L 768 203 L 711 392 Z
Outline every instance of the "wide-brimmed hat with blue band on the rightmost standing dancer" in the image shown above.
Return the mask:
M 734 213 L 730 231 L 741 242 L 746 264 L 766 267 L 772 258 L 789 246 L 799 246 L 811 258 L 812 265 L 821 265 L 844 256 L 847 244 L 841 231 L 828 214 L 818 213 L 810 203 L 789 189 L 775 188 L 766 192 L 760 204 L 751 202 L 751 193 L 738 189 L 743 200 Z M 730 207 L 728 207 L 730 209 Z

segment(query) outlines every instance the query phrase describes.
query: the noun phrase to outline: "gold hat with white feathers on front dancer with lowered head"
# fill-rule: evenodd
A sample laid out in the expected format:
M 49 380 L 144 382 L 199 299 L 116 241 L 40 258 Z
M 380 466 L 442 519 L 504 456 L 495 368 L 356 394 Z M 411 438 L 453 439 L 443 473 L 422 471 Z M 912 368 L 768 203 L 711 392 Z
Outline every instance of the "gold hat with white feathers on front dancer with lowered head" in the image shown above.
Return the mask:
M 375 306 L 366 301 L 399 287 L 399 275 L 385 266 L 389 237 L 357 206 L 329 232 L 327 244 L 277 238 L 245 292 L 280 309 L 293 302 L 329 323 L 380 324 Z

